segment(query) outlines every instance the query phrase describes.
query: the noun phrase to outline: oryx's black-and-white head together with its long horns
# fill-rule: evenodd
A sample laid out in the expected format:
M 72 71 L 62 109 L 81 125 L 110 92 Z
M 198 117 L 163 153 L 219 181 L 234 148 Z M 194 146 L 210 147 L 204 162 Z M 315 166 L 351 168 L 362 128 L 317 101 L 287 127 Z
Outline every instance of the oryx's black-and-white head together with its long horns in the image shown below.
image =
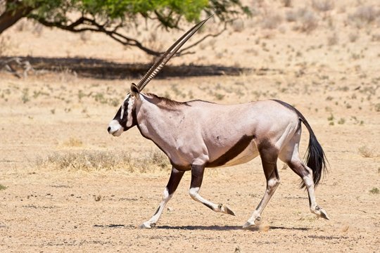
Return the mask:
M 175 44 L 172 44 L 172 46 L 167 49 L 167 51 L 157 60 L 157 62 L 153 64 L 148 72 L 144 74 L 144 77 L 140 79 L 139 83 L 132 83 L 130 91 L 122 101 L 122 105 L 113 120 L 108 125 L 109 134 L 112 134 L 113 136 L 120 136 L 123 131 L 127 131 L 132 126 L 137 124 L 136 108 L 137 105 L 141 103 L 140 91 L 144 89 L 146 84 L 148 84 L 148 82 L 151 81 L 151 79 L 153 79 L 158 72 L 160 72 L 161 68 L 163 68 L 167 61 L 170 60 L 175 53 L 177 53 L 178 49 L 181 48 L 181 46 L 188 39 L 190 39 L 190 37 L 193 36 L 193 34 L 196 33 L 196 31 L 198 31 L 198 29 L 201 28 L 201 26 L 211 17 L 212 15 L 205 20 L 198 22 L 198 24 L 194 25 L 194 27 L 182 35 L 182 37 L 175 41 Z

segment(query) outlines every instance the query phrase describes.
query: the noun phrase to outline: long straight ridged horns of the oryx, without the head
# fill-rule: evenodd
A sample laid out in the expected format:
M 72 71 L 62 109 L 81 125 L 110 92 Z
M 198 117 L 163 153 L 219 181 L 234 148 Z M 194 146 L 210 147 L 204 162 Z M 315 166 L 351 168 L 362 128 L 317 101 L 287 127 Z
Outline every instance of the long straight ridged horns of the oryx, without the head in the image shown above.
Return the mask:
M 172 44 L 172 46 L 170 46 L 170 48 L 167 49 L 167 51 L 165 51 L 165 53 L 157 60 L 156 63 L 153 64 L 153 66 L 148 70 L 148 72 L 144 74 L 144 77 L 140 79 L 139 83 L 137 83 L 137 87 L 140 91 L 144 89 L 146 84 L 148 84 L 148 82 L 151 81 L 153 77 L 156 77 L 156 74 L 158 74 L 158 72 L 160 72 L 160 70 L 167 63 L 167 61 L 170 60 L 170 58 L 172 58 L 172 56 L 174 56 L 175 53 L 177 53 L 178 49 L 181 48 L 181 46 L 185 44 L 185 42 L 188 39 L 190 39 L 190 37 L 193 36 L 193 34 L 195 34 L 196 31 L 198 31 L 198 29 L 201 28 L 201 26 L 205 22 L 207 22 L 207 20 L 209 20 L 212 16 L 213 15 L 210 15 L 210 17 L 206 18 L 205 20 L 198 22 L 198 24 L 194 25 L 193 28 L 191 28 L 184 35 L 182 35 L 181 38 L 175 41 L 175 44 Z

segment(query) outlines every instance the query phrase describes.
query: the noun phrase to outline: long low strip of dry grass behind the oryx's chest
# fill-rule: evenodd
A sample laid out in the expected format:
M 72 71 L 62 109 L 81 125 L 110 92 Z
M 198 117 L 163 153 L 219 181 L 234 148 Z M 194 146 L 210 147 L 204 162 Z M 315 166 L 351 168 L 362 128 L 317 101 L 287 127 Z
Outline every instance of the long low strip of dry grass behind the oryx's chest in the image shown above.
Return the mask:
M 89 151 L 53 153 L 46 158 L 37 157 L 37 168 L 69 171 L 102 171 L 122 169 L 146 173 L 170 168 L 167 157 L 160 150 L 151 150 L 141 158 L 133 159 L 127 153 Z

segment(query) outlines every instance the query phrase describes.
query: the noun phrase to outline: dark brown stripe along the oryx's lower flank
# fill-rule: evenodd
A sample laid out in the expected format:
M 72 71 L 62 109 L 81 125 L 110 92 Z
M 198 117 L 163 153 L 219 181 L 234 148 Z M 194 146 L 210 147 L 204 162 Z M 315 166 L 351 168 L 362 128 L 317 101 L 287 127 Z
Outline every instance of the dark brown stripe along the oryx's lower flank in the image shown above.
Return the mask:
M 240 140 L 235 143 L 235 145 L 233 145 L 226 153 L 221 155 L 213 162 L 208 162 L 206 164 L 206 167 L 218 167 L 227 164 L 227 162 L 233 160 L 240 153 L 242 153 L 248 147 L 249 143 L 251 143 L 253 138 L 255 138 L 255 136 L 242 136 Z

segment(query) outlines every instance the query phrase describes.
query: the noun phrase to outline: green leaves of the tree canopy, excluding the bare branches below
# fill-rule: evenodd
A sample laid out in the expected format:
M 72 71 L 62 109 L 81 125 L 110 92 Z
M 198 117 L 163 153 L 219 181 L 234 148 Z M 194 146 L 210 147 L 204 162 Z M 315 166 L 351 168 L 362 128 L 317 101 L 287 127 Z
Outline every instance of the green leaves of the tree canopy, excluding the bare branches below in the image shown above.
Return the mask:
M 9 8 L 17 8 L 11 1 Z M 157 19 L 164 27 L 177 27 L 183 17 L 187 22 L 198 22 L 201 12 L 215 13 L 222 21 L 245 13 L 249 8 L 240 0 L 27 0 L 25 6 L 34 8 L 30 17 L 37 20 L 68 25 L 69 13 L 81 13 L 108 22 L 134 22 L 138 15 Z

